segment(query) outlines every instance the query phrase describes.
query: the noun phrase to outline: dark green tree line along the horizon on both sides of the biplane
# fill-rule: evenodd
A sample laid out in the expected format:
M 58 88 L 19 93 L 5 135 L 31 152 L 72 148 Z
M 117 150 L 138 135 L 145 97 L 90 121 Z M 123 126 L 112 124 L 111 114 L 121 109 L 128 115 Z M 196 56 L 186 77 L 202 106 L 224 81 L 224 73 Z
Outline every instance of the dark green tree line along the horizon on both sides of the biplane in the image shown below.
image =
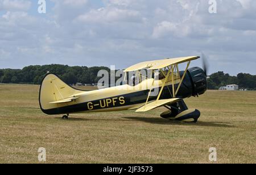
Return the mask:
M 0 69 L 0 83 L 5 84 L 35 84 L 39 85 L 47 72 L 55 73 L 67 84 L 95 84 L 101 77 L 97 77 L 99 70 L 110 69 L 104 66 L 68 66 L 68 65 L 35 65 L 23 69 Z M 213 73 L 208 78 L 208 89 L 218 89 L 221 86 L 237 84 L 242 89 L 256 90 L 256 76 L 239 73 L 230 76 L 228 73 Z

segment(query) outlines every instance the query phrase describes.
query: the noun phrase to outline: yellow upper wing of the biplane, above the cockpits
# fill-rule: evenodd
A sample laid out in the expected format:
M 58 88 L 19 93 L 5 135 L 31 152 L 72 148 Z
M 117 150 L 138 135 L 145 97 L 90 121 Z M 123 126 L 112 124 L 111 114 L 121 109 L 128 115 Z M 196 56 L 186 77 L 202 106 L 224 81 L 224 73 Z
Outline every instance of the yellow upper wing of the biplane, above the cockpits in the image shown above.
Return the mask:
M 144 61 L 129 68 L 125 69 L 125 72 L 133 72 L 141 69 L 149 69 L 149 70 L 156 70 L 166 68 L 167 66 L 180 64 L 187 61 L 192 61 L 199 59 L 200 56 L 189 56 L 189 57 L 179 57 L 175 59 L 164 59 L 164 60 L 154 60 L 154 61 Z

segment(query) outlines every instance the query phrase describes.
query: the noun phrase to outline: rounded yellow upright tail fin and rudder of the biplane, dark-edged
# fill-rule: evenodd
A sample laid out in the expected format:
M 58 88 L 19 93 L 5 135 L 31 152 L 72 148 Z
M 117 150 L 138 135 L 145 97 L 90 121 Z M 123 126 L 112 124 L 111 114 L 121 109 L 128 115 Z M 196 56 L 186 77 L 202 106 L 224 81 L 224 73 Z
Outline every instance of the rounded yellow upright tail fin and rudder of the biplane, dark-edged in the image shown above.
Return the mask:
M 60 80 L 55 74 L 47 74 L 46 77 L 43 78 L 40 86 L 40 107 L 42 111 L 55 109 L 60 107 L 60 105 L 52 102 L 61 101 L 78 93 L 81 93 L 81 91 L 65 84 L 65 82 Z

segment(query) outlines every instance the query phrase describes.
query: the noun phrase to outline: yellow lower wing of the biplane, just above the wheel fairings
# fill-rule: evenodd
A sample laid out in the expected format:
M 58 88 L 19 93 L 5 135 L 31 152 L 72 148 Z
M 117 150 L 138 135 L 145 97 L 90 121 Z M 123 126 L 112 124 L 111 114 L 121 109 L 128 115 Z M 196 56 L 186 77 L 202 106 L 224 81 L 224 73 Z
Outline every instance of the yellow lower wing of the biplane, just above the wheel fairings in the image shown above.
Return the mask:
M 140 109 L 138 109 L 136 112 L 146 112 L 150 111 L 152 109 L 156 109 L 157 107 L 165 106 L 165 105 L 170 105 L 172 103 L 176 103 L 180 101 L 181 98 L 171 98 L 171 99 L 162 99 L 159 101 L 154 101 L 151 103 L 148 103 L 147 105 L 142 106 Z

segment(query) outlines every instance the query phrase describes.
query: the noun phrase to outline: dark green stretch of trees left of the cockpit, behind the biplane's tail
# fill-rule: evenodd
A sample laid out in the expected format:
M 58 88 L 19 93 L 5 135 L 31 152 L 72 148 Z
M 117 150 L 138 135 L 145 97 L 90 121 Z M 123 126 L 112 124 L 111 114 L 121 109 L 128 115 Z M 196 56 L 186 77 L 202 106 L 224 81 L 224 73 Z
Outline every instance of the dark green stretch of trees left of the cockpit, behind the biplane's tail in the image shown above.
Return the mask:
M 0 83 L 3 84 L 41 84 L 43 77 L 48 72 L 57 74 L 67 84 L 93 84 L 98 82 L 97 77 L 99 70 L 110 69 L 104 66 L 94 66 L 88 68 L 86 66 L 68 66 L 68 65 L 35 65 L 27 66 L 23 69 L 0 69 Z

